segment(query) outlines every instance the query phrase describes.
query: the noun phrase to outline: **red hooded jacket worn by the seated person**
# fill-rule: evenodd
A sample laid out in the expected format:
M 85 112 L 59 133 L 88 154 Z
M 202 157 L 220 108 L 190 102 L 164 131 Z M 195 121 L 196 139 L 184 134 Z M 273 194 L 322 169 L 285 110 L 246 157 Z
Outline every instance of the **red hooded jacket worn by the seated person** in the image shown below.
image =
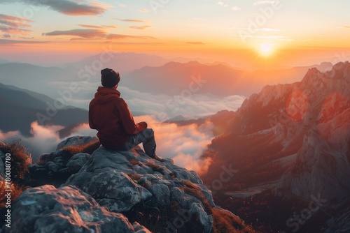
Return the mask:
M 99 87 L 89 105 L 89 126 L 98 131 L 102 146 L 118 149 L 130 135 L 147 128 L 146 122 L 135 124 L 134 118 L 120 92 L 116 89 Z

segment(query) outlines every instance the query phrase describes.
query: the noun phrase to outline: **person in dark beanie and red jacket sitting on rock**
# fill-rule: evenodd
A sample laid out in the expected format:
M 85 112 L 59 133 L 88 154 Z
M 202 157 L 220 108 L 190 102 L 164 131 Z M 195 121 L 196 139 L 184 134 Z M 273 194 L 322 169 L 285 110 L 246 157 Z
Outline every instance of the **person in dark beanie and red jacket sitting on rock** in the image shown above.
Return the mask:
M 120 98 L 119 73 L 105 68 L 101 70 L 101 82 L 103 87 L 98 87 L 89 105 L 89 126 L 98 131 L 102 146 L 127 151 L 142 143 L 148 156 L 163 160 L 155 155 L 153 130 L 147 128 L 145 121 L 135 123 L 127 103 Z

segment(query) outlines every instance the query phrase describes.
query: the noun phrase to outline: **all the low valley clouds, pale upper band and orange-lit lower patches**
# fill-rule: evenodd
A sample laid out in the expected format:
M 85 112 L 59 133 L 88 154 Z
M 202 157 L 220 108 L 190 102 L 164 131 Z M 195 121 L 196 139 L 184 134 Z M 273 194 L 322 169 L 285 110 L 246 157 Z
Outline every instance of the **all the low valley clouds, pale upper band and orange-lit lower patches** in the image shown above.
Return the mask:
M 62 86 L 60 86 L 62 85 Z M 65 84 L 57 84 L 60 89 L 66 89 Z M 81 85 L 78 96 L 72 96 L 66 105 L 88 108 L 99 83 L 85 83 Z M 130 107 L 131 112 L 142 114 L 134 117 L 136 122 L 146 121 L 148 128 L 153 128 L 157 142 L 157 154 L 164 158 L 172 158 L 176 165 L 186 167 L 196 172 L 206 172 L 210 164 L 209 160 L 202 160 L 200 156 L 207 149 L 214 135 L 212 123 L 206 121 L 201 125 L 195 123 L 187 126 L 179 126 L 176 123 L 164 123 L 176 116 L 185 119 L 197 119 L 207 117 L 221 110 L 237 110 L 244 101 L 244 96 L 227 96 L 218 98 L 215 96 L 191 93 L 187 96 L 154 95 L 133 91 L 127 87 L 118 87 Z M 136 114 L 135 114 L 136 115 Z M 38 122 L 31 123 L 31 137 L 25 137 L 20 132 L 3 133 L 0 131 L 0 141 L 12 143 L 20 142 L 28 148 L 33 161 L 38 160 L 42 153 L 55 151 L 59 142 L 65 138 L 59 138 L 58 130 L 63 126 L 41 126 Z M 87 123 L 73 130 L 72 135 L 95 136 L 96 130 L 91 130 Z

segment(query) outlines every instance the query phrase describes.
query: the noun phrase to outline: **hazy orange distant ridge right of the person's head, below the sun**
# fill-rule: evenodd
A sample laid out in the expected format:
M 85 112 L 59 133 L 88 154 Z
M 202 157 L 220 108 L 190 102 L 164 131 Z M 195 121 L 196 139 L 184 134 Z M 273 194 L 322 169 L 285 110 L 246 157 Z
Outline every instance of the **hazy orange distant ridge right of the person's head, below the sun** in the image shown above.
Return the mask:
M 198 61 L 188 63 L 168 62 L 163 66 L 146 66 L 126 75 L 123 84 L 131 89 L 150 93 L 180 95 L 183 90 L 198 80 L 200 89 L 193 93 L 225 97 L 231 95 L 250 96 L 267 84 L 293 83 L 311 67 L 322 70 L 332 67 L 331 63 L 276 70 L 255 70 L 248 72 L 232 68 L 224 63 L 203 64 Z M 137 85 L 136 85 L 137 84 Z

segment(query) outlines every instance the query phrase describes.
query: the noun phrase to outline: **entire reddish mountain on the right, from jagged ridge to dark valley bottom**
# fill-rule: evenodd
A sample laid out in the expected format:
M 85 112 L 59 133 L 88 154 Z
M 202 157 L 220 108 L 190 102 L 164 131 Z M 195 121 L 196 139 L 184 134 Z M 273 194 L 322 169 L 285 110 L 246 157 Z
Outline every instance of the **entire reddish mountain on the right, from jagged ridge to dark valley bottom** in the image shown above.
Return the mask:
M 270 204 L 279 203 L 286 206 L 283 214 L 271 214 L 285 216 L 290 211 L 292 217 L 275 222 L 269 218 L 274 222 L 270 225 L 277 225 L 274 231 L 290 232 L 296 229 L 290 225 L 297 225 L 307 232 L 349 232 L 349 225 L 339 223 L 350 211 L 346 207 L 350 197 L 349 62 L 337 63 L 324 73 L 310 68 L 301 82 L 264 87 L 228 116 L 202 156 L 212 161 L 202 179 L 220 193 L 225 208 L 240 209 L 246 220 L 257 223 L 266 218 L 262 206 L 271 213 Z M 222 180 L 228 165 L 236 172 Z M 228 197 L 255 207 L 241 206 Z M 279 197 L 283 199 L 278 202 Z M 313 200 L 324 207 L 314 217 L 322 223 L 305 223 L 309 218 L 298 223 L 295 212 Z M 256 205 L 262 203 L 259 209 Z M 333 223 L 339 224 L 332 225 L 338 231 L 330 230 Z

